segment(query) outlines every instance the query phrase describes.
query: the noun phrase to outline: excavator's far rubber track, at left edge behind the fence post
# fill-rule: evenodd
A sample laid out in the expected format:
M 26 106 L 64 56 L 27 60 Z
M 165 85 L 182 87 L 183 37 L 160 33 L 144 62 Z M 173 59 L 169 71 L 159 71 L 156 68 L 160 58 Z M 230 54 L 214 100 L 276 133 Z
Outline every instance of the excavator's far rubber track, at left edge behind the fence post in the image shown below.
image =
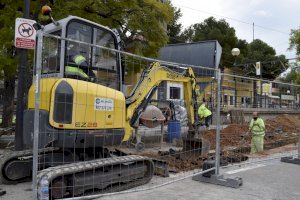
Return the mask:
M 39 154 L 46 154 L 58 150 L 58 148 L 43 148 L 39 149 Z M 32 166 L 32 150 L 24 151 L 9 151 L 0 156 L 0 183 L 2 184 L 15 184 L 27 181 L 31 178 L 31 166 Z M 22 167 L 18 171 L 10 171 L 8 168 L 11 165 L 11 162 L 22 162 Z M 30 165 L 30 170 L 26 170 L 25 165 Z M 18 177 L 16 176 L 17 172 L 23 172 L 25 176 Z

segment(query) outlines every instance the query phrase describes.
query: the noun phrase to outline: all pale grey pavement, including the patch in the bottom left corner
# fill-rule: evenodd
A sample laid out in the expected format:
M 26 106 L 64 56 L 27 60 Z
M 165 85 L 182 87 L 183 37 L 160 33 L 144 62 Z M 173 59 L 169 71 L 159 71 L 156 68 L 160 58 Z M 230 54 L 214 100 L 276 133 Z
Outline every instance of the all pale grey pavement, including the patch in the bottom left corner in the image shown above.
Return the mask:
M 98 199 L 298 200 L 300 199 L 300 166 L 279 161 L 279 157 L 292 154 L 296 154 L 296 146 L 287 145 L 265 151 L 264 154 L 251 156 L 245 163 L 222 168 L 221 173 L 225 177 L 243 178 L 243 185 L 238 189 L 200 183 L 193 181 L 192 178 L 187 178 L 156 189 L 104 196 Z M 180 174 L 175 174 L 169 178 L 154 177 L 150 183 L 141 187 L 150 188 L 154 184 L 167 182 L 168 179 L 175 180 L 176 176 L 180 176 Z M 7 192 L 0 199 L 31 199 L 31 183 L 29 182 L 17 185 L 0 185 L 0 188 Z

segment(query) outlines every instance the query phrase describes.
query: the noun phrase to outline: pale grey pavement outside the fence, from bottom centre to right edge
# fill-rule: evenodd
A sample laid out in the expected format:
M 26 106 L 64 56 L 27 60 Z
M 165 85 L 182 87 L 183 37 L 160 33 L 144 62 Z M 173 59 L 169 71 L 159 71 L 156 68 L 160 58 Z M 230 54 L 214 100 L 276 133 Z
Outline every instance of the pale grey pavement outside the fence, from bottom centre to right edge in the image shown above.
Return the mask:
M 226 177 L 242 177 L 239 189 L 200 183 L 191 178 L 154 190 L 99 198 L 101 200 L 299 200 L 300 166 L 271 160 L 228 168 Z M 230 175 L 229 175 L 230 174 Z

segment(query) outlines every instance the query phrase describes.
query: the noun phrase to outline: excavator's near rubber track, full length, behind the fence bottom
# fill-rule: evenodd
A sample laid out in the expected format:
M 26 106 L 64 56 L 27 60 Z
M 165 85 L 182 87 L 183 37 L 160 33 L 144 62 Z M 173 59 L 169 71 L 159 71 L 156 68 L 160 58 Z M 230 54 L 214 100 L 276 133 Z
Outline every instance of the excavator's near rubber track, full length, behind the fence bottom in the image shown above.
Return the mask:
M 38 190 L 49 183 L 50 199 L 117 192 L 149 182 L 154 174 L 150 158 L 130 155 L 50 167 L 39 172 Z

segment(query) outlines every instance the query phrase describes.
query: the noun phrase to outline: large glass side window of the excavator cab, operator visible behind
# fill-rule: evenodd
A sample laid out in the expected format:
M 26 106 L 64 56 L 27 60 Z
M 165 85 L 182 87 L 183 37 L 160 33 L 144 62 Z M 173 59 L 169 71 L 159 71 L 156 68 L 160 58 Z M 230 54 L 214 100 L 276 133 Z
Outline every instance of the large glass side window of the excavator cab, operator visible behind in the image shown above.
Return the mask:
M 116 39 L 111 32 L 78 21 L 71 21 L 67 25 L 67 38 L 117 49 Z M 78 60 L 79 56 L 81 60 Z M 88 81 L 119 90 L 120 70 L 116 52 L 67 41 L 65 63 L 68 67 L 79 68 L 85 74 L 83 77 L 88 76 Z M 66 75 L 69 73 L 67 69 L 65 68 Z

